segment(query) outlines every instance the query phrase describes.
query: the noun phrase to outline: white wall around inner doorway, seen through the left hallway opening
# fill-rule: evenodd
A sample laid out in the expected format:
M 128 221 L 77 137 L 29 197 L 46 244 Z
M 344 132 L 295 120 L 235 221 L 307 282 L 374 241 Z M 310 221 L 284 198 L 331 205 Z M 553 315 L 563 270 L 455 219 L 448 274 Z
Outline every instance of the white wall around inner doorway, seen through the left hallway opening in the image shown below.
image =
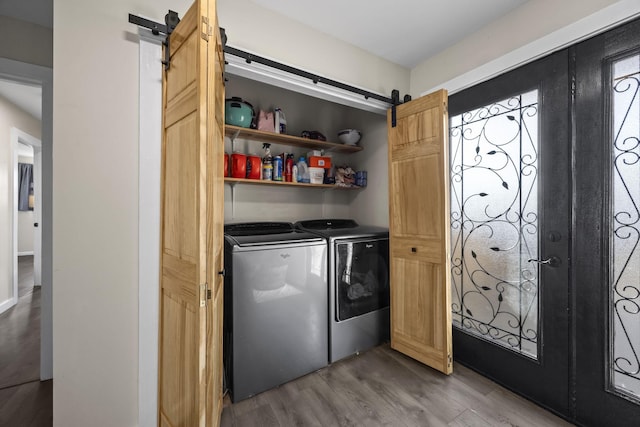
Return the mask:
M 40 138 L 40 121 L 0 97 L 0 305 L 13 298 L 13 149 L 11 128 Z

